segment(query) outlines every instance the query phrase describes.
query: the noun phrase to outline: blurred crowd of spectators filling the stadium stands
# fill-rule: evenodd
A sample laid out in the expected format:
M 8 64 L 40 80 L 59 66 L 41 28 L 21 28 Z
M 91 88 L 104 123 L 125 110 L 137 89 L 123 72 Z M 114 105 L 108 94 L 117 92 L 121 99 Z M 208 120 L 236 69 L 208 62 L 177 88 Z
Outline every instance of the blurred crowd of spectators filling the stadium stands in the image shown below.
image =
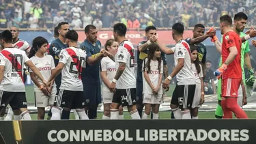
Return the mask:
M 171 27 L 177 21 L 194 27 L 218 27 L 223 14 L 248 14 L 256 25 L 253 0 L 1 0 L 0 27 L 53 29 L 61 21 L 73 29 L 95 25 L 98 29 L 124 23 L 128 28 Z M 206 23 L 205 23 L 206 22 Z

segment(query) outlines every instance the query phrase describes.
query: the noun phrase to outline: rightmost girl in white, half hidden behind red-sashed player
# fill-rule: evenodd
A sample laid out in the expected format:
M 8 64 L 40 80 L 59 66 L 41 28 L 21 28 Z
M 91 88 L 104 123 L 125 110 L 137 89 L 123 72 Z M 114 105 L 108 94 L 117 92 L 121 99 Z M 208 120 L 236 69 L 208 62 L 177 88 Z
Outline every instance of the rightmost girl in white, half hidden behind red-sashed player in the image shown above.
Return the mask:
M 204 83 L 203 83 L 203 69 L 199 63 L 198 49 L 197 46 L 190 46 L 191 51 L 191 62 L 192 71 L 195 74 L 196 85 L 195 85 L 195 96 L 191 106 L 191 117 L 192 119 L 198 119 L 198 109 L 204 102 Z

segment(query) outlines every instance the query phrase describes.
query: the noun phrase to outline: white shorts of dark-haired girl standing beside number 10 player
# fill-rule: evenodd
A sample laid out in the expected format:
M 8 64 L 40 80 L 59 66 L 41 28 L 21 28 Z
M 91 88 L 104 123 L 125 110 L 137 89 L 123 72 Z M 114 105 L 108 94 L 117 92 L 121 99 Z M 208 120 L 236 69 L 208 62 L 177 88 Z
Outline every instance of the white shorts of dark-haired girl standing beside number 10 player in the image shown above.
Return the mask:
M 35 107 L 45 108 L 48 105 L 53 105 L 56 93 L 56 87 L 53 87 L 51 96 L 45 96 L 44 93 L 42 93 L 42 91 L 35 91 Z

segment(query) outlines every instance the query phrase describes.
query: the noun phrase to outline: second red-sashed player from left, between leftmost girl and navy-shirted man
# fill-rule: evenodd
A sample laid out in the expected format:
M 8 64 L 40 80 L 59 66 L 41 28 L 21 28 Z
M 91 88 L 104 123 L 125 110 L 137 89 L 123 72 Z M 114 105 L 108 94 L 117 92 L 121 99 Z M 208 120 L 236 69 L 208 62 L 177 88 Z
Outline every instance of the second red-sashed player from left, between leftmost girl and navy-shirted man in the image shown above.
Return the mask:
M 66 33 L 66 42 L 70 47 L 61 50 L 59 64 L 48 79 L 47 85 L 50 86 L 53 79 L 61 72 L 61 86 L 57 91 L 51 119 L 69 119 L 71 109 L 76 109 L 80 119 L 88 119 L 84 109 L 85 96 L 81 81 L 86 53 L 77 46 L 78 38 L 79 35 L 74 30 Z

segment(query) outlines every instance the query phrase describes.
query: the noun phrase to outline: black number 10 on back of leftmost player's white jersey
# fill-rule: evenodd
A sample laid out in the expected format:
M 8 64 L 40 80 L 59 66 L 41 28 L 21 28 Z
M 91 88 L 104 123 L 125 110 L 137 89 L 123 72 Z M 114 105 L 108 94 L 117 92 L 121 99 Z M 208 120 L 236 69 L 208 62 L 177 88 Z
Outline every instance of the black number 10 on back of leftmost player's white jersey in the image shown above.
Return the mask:
M 23 69 L 23 55 L 9 55 L 12 63 L 12 72 L 22 72 Z

